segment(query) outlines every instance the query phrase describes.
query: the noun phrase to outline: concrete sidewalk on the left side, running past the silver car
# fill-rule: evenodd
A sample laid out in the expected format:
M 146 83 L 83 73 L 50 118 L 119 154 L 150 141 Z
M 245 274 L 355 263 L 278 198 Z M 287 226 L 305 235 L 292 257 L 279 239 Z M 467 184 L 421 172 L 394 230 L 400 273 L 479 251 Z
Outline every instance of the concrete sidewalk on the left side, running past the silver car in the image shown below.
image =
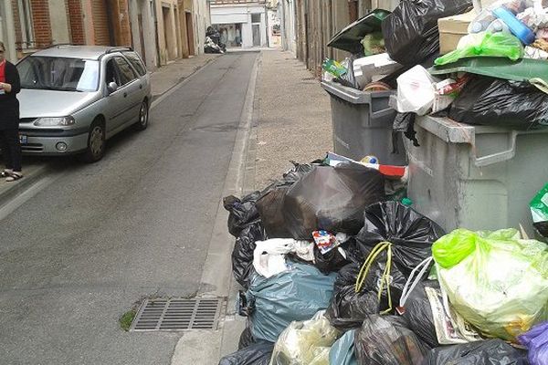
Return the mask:
M 197 70 L 203 68 L 209 62 L 221 55 L 199 55 L 190 58 L 178 59 L 163 68 L 158 68 L 151 75 L 153 99 L 160 98 L 185 78 L 191 77 Z M 61 158 L 62 159 L 62 158 Z M 24 156 L 23 173 L 25 177 L 14 183 L 7 183 L 0 180 L 0 207 L 14 199 L 27 187 L 36 183 L 47 172 L 51 171 L 52 165 L 62 165 L 58 158 L 42 158 L 35 156 Z

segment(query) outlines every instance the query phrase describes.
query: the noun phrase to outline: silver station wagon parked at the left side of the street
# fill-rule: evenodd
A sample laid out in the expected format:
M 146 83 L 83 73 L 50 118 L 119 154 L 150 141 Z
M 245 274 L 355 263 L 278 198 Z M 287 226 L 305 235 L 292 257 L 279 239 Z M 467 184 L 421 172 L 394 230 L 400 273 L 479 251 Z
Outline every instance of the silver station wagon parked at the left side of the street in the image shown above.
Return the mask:
M 114 134 L 148 126 L 150 75 L 131 48 L 54 46 L 16 67 L 26 154 L 82 153 L 96 162 Z

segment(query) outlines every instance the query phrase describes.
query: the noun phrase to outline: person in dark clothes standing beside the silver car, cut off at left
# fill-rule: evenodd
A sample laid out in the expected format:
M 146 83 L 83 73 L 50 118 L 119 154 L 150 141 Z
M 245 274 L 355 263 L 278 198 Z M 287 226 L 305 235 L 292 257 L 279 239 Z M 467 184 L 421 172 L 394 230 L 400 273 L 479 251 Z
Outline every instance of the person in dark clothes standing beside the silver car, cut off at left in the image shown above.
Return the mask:
M 19 100 L 21 90 L 19 73 L 5 59 L 5 46 L 0 42 L 0 148 L 5 170 L 0 175 L 6 182 L 15 182 L 23 177 L 21 172 L 21 144 L 19 143 Z

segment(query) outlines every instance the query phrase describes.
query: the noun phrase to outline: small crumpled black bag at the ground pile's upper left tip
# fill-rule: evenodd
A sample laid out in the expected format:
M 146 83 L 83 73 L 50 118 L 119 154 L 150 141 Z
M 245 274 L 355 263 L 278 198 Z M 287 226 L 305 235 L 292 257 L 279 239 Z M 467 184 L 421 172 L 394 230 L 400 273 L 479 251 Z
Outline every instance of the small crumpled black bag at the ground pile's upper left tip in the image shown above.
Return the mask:
M 257 200 L 260 192 L 249 193 L 241 200 L 234 195 L 223 199 L 223 205 L 229 212 L 228 214 L 228 232 L 237 237 L 242 230 L 258 220 Z

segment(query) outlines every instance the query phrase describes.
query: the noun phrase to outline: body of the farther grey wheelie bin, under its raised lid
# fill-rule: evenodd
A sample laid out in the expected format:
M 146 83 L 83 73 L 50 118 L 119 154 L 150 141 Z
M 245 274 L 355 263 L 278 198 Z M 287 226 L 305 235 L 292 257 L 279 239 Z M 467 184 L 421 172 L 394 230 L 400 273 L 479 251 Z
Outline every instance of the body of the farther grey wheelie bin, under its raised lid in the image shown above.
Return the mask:
M 374 155 L 380 163 L 406 165 L 401 133 L 392 138 L 395 110 L 388 106 L 392 91 L 364 92 L 323 81 L 331 96 L 333 146 L 335 153 L 360 161 Z

